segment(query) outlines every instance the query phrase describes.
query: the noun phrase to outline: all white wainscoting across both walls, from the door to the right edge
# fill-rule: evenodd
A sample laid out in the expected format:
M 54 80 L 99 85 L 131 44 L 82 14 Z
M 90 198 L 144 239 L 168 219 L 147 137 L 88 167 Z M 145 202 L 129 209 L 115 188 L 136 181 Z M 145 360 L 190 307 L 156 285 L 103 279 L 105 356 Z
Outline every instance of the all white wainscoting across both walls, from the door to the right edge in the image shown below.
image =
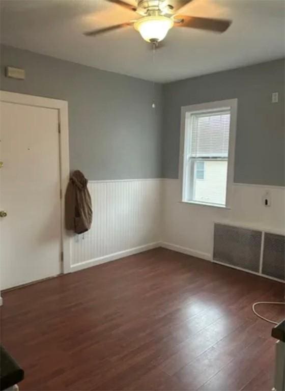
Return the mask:
M 71 238 L 71 271 L 158 246 L 212 260 L 214 222 L 285 233 L 284 187 L 234 184 L 231 209 L 181 203 L 178 179 L 91 181 L 89 189 L 93 225 Z

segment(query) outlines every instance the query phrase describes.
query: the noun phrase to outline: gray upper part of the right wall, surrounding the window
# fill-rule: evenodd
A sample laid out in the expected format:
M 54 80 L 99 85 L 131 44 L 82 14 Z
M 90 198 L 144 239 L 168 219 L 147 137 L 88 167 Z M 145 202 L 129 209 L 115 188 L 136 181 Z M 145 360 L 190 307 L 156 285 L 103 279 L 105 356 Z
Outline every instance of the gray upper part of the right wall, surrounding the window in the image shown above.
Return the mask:
M 285 185 L 284 60 L 167 83 L 163 97 L 164 177 L 178 178 L 181 106 L 238 98 L 235 182 Z

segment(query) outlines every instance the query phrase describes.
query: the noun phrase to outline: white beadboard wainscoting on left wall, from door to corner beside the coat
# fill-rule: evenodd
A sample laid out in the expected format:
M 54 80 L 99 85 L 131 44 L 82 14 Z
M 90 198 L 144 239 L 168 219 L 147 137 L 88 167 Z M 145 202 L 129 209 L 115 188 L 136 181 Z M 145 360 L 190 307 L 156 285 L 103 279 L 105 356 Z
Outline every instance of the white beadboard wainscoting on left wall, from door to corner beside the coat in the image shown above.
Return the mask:
M 161 180 L 90 181 L 93 224 L 71 238 L 71 270 L 156 247 L 161 231 Z

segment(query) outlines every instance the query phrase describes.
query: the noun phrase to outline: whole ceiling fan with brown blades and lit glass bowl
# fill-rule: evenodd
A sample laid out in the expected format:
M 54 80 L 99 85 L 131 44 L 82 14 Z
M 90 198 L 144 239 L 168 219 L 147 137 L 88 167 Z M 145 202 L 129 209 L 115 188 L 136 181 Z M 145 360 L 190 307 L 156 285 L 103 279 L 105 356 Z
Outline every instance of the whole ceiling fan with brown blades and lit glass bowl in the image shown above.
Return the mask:
M 172 27 L 190 27 L 192 29 L 223 33 L 232 23 L 231 20 L 202 18 L 177 13 L 180 8 L 192 0 L 138 0 L 137 7 L 123 0 L 106 1 L 118 4 L 129 11 L 136 12 L 141 17 L 126 23 L 105 27 L 104 29 L 89 31 L 84 33 L 84 35 L 96 36 L 112 30 L 122 29 L 123 27 L 134 26 L 135 30 L 140 33 L 144 40 L 157 45 L 158 42 L 166 37 Z

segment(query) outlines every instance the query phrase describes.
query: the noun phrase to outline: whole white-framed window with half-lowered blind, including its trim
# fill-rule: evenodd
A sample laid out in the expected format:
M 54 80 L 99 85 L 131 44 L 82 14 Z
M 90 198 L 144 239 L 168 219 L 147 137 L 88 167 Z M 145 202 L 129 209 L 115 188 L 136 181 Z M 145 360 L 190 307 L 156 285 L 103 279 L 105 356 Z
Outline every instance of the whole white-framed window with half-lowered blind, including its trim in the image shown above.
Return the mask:
M 182 201 L 229 206 L 237 100 L 182 108 Z

